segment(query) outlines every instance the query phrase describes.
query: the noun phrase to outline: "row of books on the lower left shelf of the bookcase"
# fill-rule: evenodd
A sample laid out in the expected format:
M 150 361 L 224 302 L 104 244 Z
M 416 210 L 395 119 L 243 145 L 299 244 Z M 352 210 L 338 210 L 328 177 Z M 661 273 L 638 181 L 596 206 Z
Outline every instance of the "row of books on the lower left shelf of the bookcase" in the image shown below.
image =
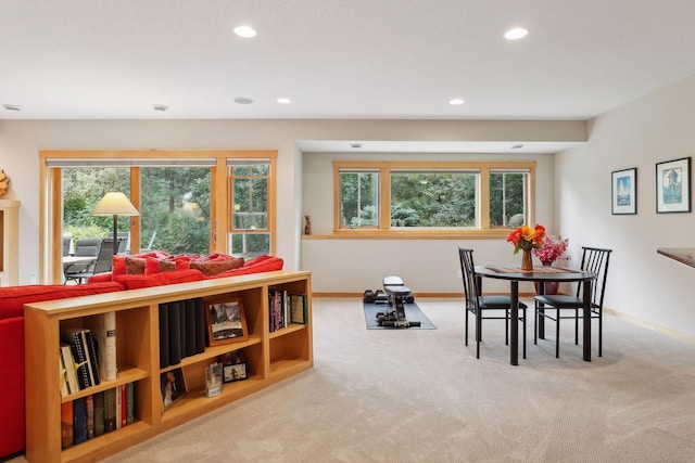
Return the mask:
M 135 422 L 135 383 L 123 384 L 61 404 L 64 449 Z

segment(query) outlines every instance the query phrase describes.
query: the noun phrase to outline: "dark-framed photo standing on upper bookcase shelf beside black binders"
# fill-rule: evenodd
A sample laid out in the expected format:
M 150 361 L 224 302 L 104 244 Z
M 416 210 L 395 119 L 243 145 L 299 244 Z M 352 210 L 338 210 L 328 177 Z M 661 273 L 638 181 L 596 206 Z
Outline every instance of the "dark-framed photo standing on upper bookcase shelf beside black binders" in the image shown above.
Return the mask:
M 249 339 L 247 317 L 241 299 L 211 300 L 206 303 L 208 346 L 239 343 Z

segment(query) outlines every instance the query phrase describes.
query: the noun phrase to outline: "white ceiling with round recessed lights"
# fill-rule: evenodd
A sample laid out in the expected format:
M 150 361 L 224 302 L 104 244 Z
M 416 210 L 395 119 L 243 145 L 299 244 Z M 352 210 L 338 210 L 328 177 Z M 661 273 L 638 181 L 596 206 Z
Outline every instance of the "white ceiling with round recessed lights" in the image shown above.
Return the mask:
M 695 74 L 694 20 L 695 0 L 0 0 L 0 119 L 587 119 Z

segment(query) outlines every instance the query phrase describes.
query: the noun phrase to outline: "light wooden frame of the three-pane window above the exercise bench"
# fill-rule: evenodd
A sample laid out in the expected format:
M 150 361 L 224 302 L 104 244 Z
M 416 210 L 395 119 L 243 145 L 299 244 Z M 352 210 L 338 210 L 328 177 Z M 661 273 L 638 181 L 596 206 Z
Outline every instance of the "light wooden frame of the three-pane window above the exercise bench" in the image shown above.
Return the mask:
M 333 162 L 333 234 L 341 237 L 397 239 L 397 237 L 500 237 L 509 230 L 490 227 L 490 173 L 501 170 L 526 171 L 529 175 L 526 204 L 529 223 L 535 222 L 535 160 L 492 162 L 382 162 L 382 160 L 334 160 Z M 350 229 L 340 226 L 341 189 L 340 173 L 350 170 L 379 170 L 379 226 L 368 229 Z M 477 227 L 470 228 L 392 228 L 391 227 L 391 172 L 416 170 L 460 170 L 478 172 Z

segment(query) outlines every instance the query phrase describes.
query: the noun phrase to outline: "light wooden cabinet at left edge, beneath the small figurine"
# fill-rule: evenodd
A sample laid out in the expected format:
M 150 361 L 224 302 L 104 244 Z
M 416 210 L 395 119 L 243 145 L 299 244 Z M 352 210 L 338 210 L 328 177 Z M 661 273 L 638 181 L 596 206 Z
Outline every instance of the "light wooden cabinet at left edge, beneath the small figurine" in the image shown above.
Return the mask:
M 20 202 L 0 200 L 0 286 L 18 280 Z

